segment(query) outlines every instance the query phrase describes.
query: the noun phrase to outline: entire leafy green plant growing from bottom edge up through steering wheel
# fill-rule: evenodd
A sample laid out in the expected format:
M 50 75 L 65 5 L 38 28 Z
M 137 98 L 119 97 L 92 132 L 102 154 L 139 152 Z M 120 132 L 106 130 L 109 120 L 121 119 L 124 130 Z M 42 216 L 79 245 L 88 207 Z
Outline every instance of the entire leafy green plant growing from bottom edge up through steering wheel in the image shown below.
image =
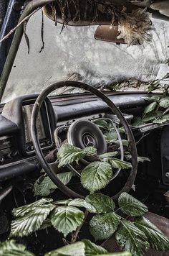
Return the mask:
M 92 147 L 81 150 L 72 145 L 64 144 L 57 153 L 59 167 L 78 162 L 84 156 L 94 154 L 95 149 Z M 95 193 L 110 182 L 113 168 L 131 168 L 131 164 L 114 157 L 113 152 L 99 155 L 98 159 L 87 165 L 81 173 L 82 186 L 90 191 L 90 195 L 86 198 L 61 201 L 42 198 L 32 204 L 14 209 L 13 215 L 16 219 L 11 222 L 10 237 L 23 237 L 39 229 L 52 226 L 57 231 L 62 232 L 64 237 L 67 237 L 68 234 L 72 235 L 72 244 L 69 247 L 72 246 L 75 250 L 74 248 L 77 245 L 79 246 L 77 243 L 81 243 L 76 243 L 79 231 L 90 213 L 92 216 L 90 219 L 90 233 L 96 241 L 115 235 L 120 248 L 134 256 L 144 255 L 149 247 L 156 250 L 168 250 L 168 238 L 144 217 L 144 214 L 148 211 L 147 206 L 127 193 L 120 195 L 116 206 L 109 196 L 100 192 Z M 71 177 L 71 174 L 65 175 L 65 177 L 68 176 Z M 37 184 L 35 184 L 36 186 Z M 42 193 L 42 190 L 39 191 Z M 84 241 L 86 240 L 82 241 L 83 245 L 81 244 L 83 247 L 87 248 L 88 245 L 86 244 L 90 244 L 90 247 L 97 248 L 90 241 Z M 107 253 L 103 252 L 104 249 L 101 248 L 101 251 L 95 253 L 93 250 L 91 248 L 84 250 L 79 255 L 90 256 Z M 56 253 L 51 253 L 53 253 L 52 255 L 73 255 L 70 252 L 65 252 L 56 250 Z

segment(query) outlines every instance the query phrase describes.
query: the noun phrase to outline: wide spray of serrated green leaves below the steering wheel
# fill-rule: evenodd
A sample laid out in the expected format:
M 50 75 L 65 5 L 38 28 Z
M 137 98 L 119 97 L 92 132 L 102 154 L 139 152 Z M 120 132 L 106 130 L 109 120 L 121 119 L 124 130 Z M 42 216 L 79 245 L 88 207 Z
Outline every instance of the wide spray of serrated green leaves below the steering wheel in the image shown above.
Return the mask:
M 48 221 L 47 227 L 53 226 L 54 229 L 62 232 L 64 237 L 67 237 L 67 234 L 73 231 L 79 232 L 79 227 L 82 227 L 86 217 L 84 211 L 81 210 L 83 208 L 86 209 L 86 213 L 90 211 L 94 214 L 90 219 L 90 232 L 95 240 L 107 239 L 115 234 L 120 248 L 131 252 L 134 256 L 142 256 L 149 247 L 157 250 L 169 249 L 168 237 L 143 217 L 148 211 L 144 204 L 129 194 L 122 193 L 118 198 L 118 206 L 119 208 L 115 210 L 115 202 L 112 198 L 102 193 L 92 193 L 85 200 L 77 198 L 54 202 L 50 198 L 42 198 L 28 206 L 14 209 L 13 214 L 16 219 L 11 222 L 10 236 L 22 237 L 31 234 L 37 229 L 42 229 L 46 224 L 45 221 Z M 48 211 L 46 211 L 47 208 Z M 42 211 L 42 209 L 45 210 Z M 117 214 L 120 211 L 125 216 Z M 127 220 L 128 217 L 133 216 L 135 219 Z M 87 244 L 90 242 L 88 241 Z M 56 250 L 56 253 L 61 252 Z M 90 255 L 89 252 L 87 253 Z

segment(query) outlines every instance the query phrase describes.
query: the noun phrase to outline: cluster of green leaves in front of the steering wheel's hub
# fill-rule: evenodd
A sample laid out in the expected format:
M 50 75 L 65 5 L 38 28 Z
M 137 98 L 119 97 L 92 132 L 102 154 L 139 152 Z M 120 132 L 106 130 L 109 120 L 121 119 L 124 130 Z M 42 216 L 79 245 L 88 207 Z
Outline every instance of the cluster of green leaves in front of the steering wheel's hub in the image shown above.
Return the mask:
M 67 148 L 69 148 L 68 145 L 64 144 L 62 145 L 62 147 L 60 147 L 59 152 L 57 153 L 57 155 L 59 155 L 59 166 L 67 165 L 74 162 L 74 160 L 77 161 L 86 155 L 91 155 L 91 152 L 96 152 L 96 150 L 92 147 L 86 147 L 84 150 L 81 150 L 77 147 L 71 146 L 71 152 L 69 152 L 68 154 Z M 65 151 L 67 152 L 66 158 L 64 158 Z M 108 152 L 104 155 L 100 155 L 97 157 L 100 161 L 94 161 L 82 170 L 82 186 L 90 191 L 90 193 L 99 191 L 100 189 L 105 188 L 108 183 L 110 183 L 110 180 L 112 178 L 112 168 L 132 168 L 132 165 L 130 163 L 119 160 L 116 157 L 111 157 L 112 155 L 114 155 L 114 152 Z

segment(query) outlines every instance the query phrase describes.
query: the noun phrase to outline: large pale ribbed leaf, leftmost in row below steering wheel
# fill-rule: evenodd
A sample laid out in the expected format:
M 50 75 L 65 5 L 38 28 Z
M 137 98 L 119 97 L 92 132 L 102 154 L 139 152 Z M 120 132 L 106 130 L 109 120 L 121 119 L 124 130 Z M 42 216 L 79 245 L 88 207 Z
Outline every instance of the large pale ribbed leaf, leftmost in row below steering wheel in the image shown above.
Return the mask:
M 11 221 L 10 237 L 24 237 L 40 229 L 54 207 L 54 205 L 49 203 L 42 205 L 38 204 L 38 206 L 30 208 L 29 211 L 26 211 L 26 214 L 22 214 L 22 216 Z

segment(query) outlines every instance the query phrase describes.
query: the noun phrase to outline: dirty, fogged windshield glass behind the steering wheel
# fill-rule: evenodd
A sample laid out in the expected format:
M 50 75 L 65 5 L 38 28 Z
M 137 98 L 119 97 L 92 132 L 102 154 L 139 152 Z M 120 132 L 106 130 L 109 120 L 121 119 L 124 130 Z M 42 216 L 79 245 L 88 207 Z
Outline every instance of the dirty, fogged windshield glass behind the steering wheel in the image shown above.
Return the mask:
M 130 78 L 152 81 L 158 75 L 160 64 L 168 61 L 169 22 L 153 19 L 153 40 L 127 47 L 95 40 L 96 26 L 67 27 L 61 33 L 62 24 L 55 26 L 44 16 L 44 50 L 39 52 L 42 47 L 41 24 L 42 12 L 37 12 L 26 27 L 30 52 L 28 54 L 23 37 L 3 102 L 19 95 L 40 93 L 49 84 L 67 79 L 83 81 L 97 88 Z M 128 86 L 125 89 L 128 90 Z M 130 91 L 132 89 L 135 86 Z M 57 93 L 77 92 L 82 91 Z

